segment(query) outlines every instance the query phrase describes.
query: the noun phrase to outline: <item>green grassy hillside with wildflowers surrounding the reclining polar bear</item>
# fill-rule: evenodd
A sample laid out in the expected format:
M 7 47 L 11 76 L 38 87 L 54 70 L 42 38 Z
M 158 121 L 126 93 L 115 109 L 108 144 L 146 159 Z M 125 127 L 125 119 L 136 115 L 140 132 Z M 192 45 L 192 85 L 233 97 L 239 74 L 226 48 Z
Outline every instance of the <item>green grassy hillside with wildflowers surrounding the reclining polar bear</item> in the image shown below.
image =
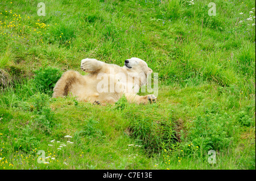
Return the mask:
M 255 1 L 39 2 L 0 1 L 0 169 L 255 169 Z M 51 98 L 86 57 L 145 60 L 158 102 Z

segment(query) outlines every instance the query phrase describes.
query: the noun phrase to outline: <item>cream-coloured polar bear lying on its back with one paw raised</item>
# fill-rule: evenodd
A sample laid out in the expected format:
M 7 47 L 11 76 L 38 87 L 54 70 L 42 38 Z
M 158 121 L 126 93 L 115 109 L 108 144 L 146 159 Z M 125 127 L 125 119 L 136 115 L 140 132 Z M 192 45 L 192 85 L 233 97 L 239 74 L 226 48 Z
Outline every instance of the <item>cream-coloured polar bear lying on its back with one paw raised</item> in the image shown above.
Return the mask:
M 123 67 L 85 58 L 81 60 L 81 70 L 89 74 L 66 71 L 53 89 L 53 98 L 72 95 L 84 102 L 106 105 L 117 102 L 125 95 L 129 103 L 156 102 L 153 94 L 137 95 L 141 86 L 146 84 L 147 76 L 152 73 L 152 69 L 140 58 L 125 60 Z

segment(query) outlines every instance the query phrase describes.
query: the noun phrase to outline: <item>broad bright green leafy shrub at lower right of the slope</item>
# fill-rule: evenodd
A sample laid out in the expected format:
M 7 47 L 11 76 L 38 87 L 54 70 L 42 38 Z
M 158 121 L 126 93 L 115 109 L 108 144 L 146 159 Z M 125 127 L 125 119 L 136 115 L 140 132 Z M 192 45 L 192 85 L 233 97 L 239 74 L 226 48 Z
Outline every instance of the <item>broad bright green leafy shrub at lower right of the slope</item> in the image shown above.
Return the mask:
M 237 126 L 233 124 L 232 118 L 227 113 L 206 110 L 205 115 L 197 116 L 193 121 L 192 128 L 184 138 L 184 150 L 187 145 L 199 146 L 204 153 L 208 150 L 222 150 L 233 144 L 234 132 Z

